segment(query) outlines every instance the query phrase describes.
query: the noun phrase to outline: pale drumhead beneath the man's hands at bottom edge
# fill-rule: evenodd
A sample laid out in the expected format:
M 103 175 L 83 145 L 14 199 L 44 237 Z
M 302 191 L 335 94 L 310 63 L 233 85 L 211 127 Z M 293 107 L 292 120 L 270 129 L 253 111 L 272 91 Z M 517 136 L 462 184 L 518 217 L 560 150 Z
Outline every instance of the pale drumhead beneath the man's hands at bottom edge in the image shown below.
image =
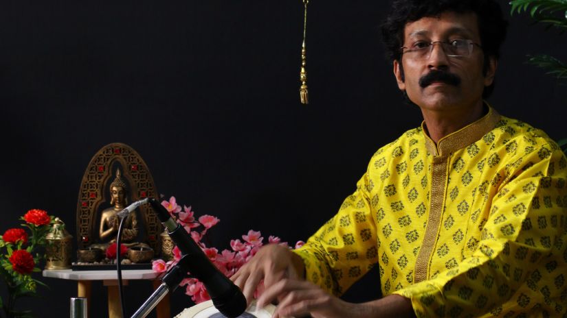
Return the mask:
M 274 314 L 274 310 L 276 310 L 276 306 L 272 304 L 268 304 L 264 306 L 264 308 L 258 308 L 256 301 L 254 301 L 238 318 L 271 318 L 271 315 Z M 226 318 L 226 316 L 219 313 L 219 310 L 214 308 L 212 300 L 209 300 L 186 308 L 179 313 L 179 315 L 175 316 L 175 318 Z

